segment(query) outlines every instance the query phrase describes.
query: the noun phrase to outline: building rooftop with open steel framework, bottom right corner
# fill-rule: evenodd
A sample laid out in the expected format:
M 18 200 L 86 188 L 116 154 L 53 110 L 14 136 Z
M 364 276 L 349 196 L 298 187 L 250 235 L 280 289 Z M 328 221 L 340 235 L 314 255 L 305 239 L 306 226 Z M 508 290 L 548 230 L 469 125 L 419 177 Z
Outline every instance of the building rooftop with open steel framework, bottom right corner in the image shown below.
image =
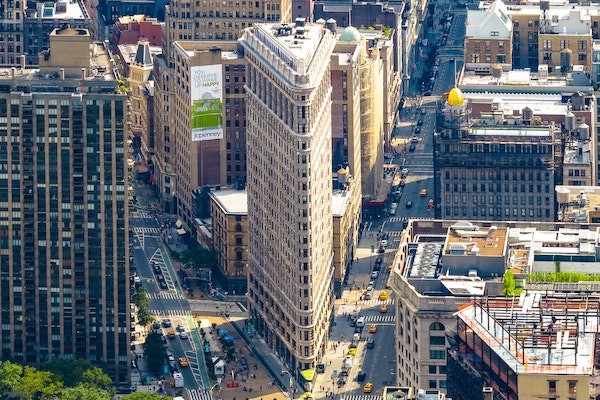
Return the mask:
M 519 298 L 475 298 L 457 313 L 515 374 L 594 373 L 600 298 L 527 292 Z

